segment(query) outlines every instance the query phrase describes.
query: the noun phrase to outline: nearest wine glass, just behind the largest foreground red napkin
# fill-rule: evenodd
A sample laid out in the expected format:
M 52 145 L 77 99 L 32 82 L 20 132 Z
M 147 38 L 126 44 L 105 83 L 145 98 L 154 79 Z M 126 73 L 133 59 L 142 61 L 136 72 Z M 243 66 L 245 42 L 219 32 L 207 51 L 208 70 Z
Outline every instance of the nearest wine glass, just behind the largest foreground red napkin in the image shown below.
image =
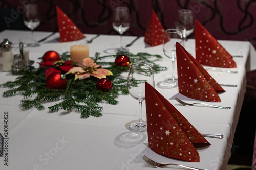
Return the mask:
M 142 102 L 145 100 L 145 81 L 155 87 L 151 64 L 134 63 L 130 65 L 127 88 L 129 94 L 140 104 L 140 118 L 138 123 L 131 124 L 129 129 L 135 132 L 145 132 L 146 125 L 142 122 Z

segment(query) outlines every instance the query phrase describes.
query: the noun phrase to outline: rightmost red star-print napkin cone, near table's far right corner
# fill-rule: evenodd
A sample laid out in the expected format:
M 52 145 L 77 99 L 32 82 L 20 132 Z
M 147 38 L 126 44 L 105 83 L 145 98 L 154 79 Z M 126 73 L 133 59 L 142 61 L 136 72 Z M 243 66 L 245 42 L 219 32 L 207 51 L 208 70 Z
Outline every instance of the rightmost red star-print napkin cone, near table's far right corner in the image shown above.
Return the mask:
M 196 59 L 204 65 L 236 68 L 233 57 L 195 20 Z

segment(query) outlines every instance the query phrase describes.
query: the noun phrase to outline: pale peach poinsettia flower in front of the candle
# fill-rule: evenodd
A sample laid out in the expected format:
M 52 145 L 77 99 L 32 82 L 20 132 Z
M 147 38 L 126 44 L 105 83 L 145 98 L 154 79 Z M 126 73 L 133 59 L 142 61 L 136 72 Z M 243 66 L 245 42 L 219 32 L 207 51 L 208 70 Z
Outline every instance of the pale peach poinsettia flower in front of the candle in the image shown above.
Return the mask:
M 83 59 L 83 67 L 73 67 L 71 68 L 67 74 L 75 74 L 75 80 L 86 79 L 90 76 L 94 76 L 96 78 L 106 78 L 106 76 L 113 75 L 111 71 L 101 68 L 100 65 L 94 63 L 94 60 L 91 58 Z

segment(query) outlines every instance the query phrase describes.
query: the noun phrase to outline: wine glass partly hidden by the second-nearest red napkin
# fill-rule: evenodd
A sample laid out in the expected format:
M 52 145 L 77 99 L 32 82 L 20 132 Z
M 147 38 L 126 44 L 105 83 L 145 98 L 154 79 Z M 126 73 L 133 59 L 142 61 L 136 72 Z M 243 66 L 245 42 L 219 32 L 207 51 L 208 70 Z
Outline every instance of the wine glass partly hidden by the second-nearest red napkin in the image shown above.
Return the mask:
M 176 42 L 184 46 L 184 38 L 182 31 L 179 29 L 167 29 L 163 37 L 163 53 L 166 57 L 172 60 L 172 77 L 158 82 L 159 88 L 174 88 L 177 85 L 177 78 L 175 76 L 175 60 L 176 60 Z

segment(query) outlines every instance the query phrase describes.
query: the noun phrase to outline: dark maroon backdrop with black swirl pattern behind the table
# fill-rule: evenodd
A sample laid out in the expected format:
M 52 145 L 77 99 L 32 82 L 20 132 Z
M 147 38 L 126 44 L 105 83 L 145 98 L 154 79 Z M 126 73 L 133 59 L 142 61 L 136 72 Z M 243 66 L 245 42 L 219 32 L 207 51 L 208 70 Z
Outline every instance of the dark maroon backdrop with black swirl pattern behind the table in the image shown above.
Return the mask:
M 112 28 L 113 10 L 126 6 L 130 9 L 132 23 L 125 35 L 135 36 L 145 35 L 152 8 L 165 29 L 174 27 L 179 9 L 190 9 L 195 19 L 216 39 L 250 41 L 256 46 L 255 0 L 1 0 L 0 29 L 26 29 L 20 22 L 22 17 L 12 18 L 11 9 L 22 16 L 24 4 L 28 2 L 40 7 L 42 21 L 37 31 L 57 30 L 56 5 L 83 33 L 93 34 L 118 34 Z M 8 26 L 3 19 L 5 16 L 12 19 Z

